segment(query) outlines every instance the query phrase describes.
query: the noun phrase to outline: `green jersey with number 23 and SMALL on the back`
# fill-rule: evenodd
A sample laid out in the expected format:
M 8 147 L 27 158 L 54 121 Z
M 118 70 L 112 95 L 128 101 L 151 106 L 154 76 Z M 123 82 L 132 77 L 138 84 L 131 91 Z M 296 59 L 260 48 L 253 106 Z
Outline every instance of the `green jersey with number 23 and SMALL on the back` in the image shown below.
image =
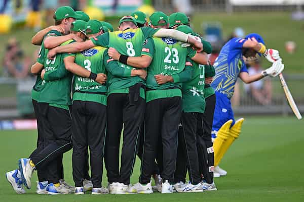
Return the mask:
M 181 96 L 181 82 L 191 78 L 191 73 L 183 74 L 186 58 L 192 58 L 196 51 L 191 48 L 183 48 L 177 40 L 168 37 L 153 37 L 145 40 L 141 55 L 153 58 L 147 69 L 146 77 L 146 102 L 163 97 Z M 155 75 L 171 75 L 174 82 L 159 85 Z M 165 90 L 167 89 L 167 90 Z

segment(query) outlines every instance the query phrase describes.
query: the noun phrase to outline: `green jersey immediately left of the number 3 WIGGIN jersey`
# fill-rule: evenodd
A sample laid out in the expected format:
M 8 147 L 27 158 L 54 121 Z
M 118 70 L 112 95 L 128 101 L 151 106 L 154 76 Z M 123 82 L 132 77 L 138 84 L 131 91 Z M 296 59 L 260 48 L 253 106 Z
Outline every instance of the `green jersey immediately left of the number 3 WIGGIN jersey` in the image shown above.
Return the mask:
M 61 45 L 65 45 L 72 42 L 72 40 L 68 40 Z M 49 50 L 45 49 L 45 56 L 48 55 Z M 44 61 L 45 67 L 45 77 L 48 77 L 49 74 L 57 71 L 58 68 L 61 68 L 62 71 L 66 71 L 63 63 L 63 54 L 57 54 L 53 60 L 49 60 L 45 57 Z M 67 106 L 71 105 L 71 78 L 72 75 L 67 73 L 66 76 L 58 79 L 47 81 L 44 80 L 42 83 L 42 89 L 40 92 L 40 103 L 49 103 L 52 106 L 61 105 L 64 106 L 62 108 L 68 109 Z

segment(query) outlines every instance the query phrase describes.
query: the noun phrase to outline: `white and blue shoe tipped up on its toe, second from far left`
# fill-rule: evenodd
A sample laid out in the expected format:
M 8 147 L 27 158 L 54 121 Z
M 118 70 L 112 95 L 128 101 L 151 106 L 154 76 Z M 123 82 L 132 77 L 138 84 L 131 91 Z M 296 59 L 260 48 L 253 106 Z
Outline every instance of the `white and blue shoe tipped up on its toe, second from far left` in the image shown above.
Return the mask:
M 30 159 L 19 159 L 18 165 L 21 173 L 23 184 L 26 188 L 30 189 L 31 187 L 31 176 L 34 172 L 34 168 L 29 164 Z

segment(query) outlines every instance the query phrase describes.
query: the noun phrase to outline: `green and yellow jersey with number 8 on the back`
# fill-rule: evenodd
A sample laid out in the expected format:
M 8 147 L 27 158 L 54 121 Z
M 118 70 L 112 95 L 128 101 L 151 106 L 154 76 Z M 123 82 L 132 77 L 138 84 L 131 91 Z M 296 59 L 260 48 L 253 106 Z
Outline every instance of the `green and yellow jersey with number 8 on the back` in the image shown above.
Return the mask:
M 123 55 L 138 57 L 141 54 L 142 42 L 147 37 L 153 36 L 159 29 L 142 27 L 138 29 L 126 29 L 124 31 L 106 32 L 97 36 L 97 40 L 91 40 L 95 45 L 104 47 L 114 47 Z M 122 68 L 136 69 L 134 67 L 118 62 Z M 136 83 L 143 83 L 144 80 L 139 76 L 117 77 L 108 73 L 108 94 L 113 92 L 128 93 L 129 87 Z M 141 94 L 141 96 L 144 96 Z

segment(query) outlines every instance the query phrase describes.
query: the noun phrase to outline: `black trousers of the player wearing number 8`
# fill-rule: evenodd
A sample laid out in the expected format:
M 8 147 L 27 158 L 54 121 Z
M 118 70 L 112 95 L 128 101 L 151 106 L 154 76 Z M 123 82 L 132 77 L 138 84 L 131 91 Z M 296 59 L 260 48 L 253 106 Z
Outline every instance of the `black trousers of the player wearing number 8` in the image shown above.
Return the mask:
M 145 100 L 134 100 L 131 93 L 112 93 L 107 97 L 107 132 L 104 162 L 108 182 L 130 184 L 136 158 L 137 139 L 144 116 Z M 131 101 L 131 102 L 130 102 Z M 120 138 L 124 124 L 121 169 L 119 170 Z

